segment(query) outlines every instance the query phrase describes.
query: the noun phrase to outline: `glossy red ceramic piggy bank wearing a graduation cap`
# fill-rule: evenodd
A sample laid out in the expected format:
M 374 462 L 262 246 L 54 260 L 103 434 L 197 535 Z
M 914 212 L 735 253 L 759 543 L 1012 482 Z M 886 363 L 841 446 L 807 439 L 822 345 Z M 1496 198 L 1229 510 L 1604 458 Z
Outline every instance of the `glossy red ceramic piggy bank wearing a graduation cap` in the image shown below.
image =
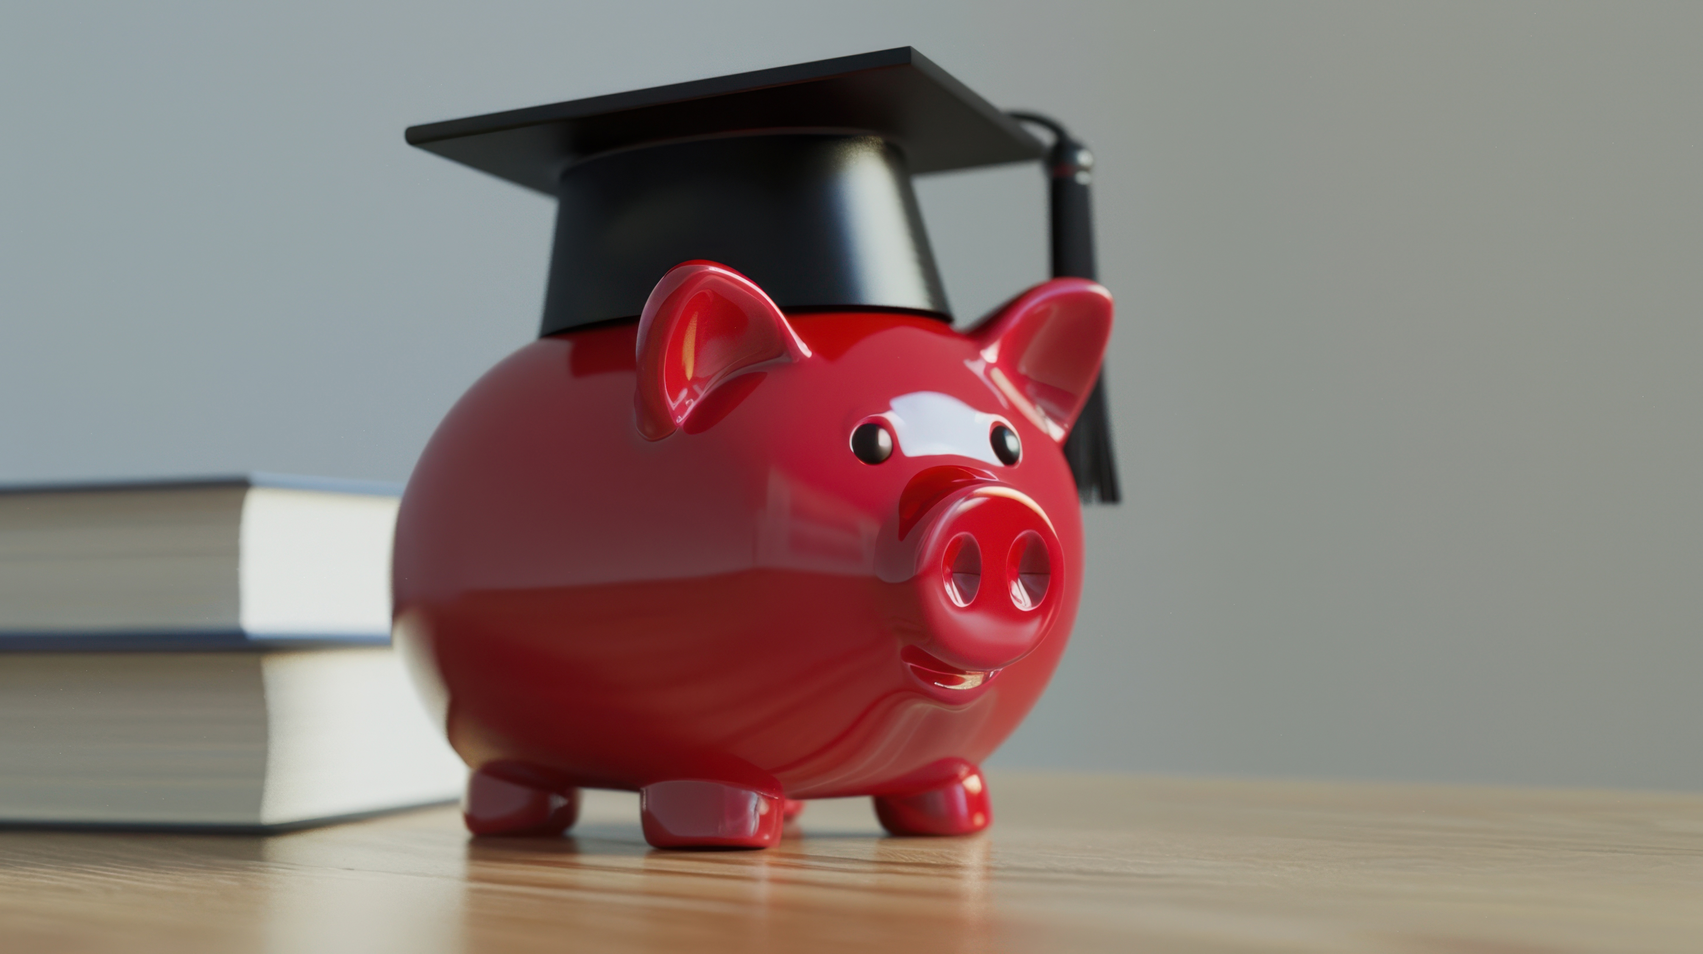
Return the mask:
M 1110 295 L 981 327 L 780 308 L 714 262 L 543 337 L 455 405 L 402 501 L 397 642 L 473 768 L 473 833 L 642 796 L 657 847 L 766 847 L 799 799 L 901 835 L 991 819 L 978 761 L 1081 589 L 1059 443 Z

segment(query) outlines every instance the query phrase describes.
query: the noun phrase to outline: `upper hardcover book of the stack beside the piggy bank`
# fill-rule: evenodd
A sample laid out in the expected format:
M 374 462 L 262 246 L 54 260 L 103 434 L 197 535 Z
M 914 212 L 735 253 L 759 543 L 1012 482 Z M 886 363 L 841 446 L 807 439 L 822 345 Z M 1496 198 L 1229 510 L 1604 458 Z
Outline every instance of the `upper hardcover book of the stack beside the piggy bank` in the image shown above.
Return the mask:
M 0 487 L 0 649 L 388 644 L 400 492 L 266 474 Z

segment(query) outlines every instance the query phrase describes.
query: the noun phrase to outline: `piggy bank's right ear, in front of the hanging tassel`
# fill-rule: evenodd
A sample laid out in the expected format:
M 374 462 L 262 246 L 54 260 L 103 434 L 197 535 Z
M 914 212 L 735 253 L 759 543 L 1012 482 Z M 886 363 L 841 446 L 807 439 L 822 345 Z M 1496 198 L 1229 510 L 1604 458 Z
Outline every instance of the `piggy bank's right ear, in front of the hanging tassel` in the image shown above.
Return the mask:
M 1100 376 L 1112 334 L 1112 293 L 1085 278 L 1054 278 L 1018 295 L 971 337 L 988 380 L 1063 441 Z

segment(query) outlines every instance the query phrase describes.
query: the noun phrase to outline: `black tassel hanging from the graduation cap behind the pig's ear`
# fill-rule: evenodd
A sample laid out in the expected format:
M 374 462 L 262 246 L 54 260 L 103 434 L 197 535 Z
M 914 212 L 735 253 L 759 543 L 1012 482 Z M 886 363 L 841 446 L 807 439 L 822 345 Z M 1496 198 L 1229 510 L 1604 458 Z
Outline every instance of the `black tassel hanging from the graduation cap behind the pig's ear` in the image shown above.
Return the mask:
M 1047 150 L 1052 278 L 1098 279 L 1093 256 L 1093 204 L 1088 193 L 1093 182 L 1093 153 L 1047 116 L 1012 112 L 1012 118 L 1044 126 L 1052 133 L 1052 148 Z M 1104 368 L 1076 424 L 1064 438 L 1064 460 L 1069 462 L 1083 503 L 1115 504 L 1122 499 L 1117 487 L 1117 457 L 1112 450 L 1112 419 L 1105 405 Z

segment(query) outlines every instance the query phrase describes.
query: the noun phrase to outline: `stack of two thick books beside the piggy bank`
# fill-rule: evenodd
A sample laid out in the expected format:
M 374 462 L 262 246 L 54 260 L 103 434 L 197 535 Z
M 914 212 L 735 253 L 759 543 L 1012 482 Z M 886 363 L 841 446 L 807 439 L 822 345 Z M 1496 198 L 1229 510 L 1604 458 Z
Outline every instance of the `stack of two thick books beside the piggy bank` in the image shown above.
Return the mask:
M 0 489 L 0 825 L 293 828 L 450 801 L 390 647 L 400 489 Z

